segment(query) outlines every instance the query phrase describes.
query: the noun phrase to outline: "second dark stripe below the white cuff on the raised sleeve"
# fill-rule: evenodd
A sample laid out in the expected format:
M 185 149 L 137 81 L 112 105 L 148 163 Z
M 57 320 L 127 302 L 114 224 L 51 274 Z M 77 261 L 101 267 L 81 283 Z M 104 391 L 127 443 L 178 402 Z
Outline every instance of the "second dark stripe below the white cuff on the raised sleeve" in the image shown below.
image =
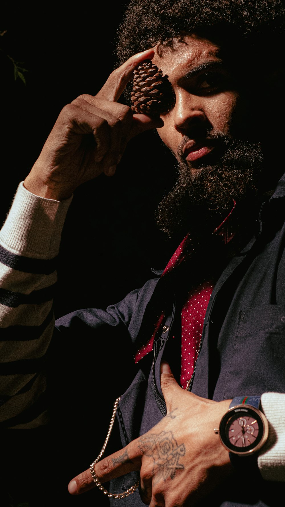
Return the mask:
M 30 294 L 22 294 L 20 292 L 8 291 L 5 288 L 0 288 L 0 304 L 17 308 L 19 305 L 39 305 L 51 301 L 55 294 L 56 283 L 33 291 Z

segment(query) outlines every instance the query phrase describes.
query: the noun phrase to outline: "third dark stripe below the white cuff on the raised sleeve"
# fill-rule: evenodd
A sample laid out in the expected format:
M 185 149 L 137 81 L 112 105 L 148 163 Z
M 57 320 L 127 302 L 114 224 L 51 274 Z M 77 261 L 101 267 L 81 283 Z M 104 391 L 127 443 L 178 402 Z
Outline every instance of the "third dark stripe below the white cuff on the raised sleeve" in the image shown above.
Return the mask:
M 51 309 L 44 322 L 40 325 L 10 325 L 9 328 L 0 329 L 0 341 L 28 341 L 37 340 L 42 336 L 45 329 L 48 327 L 54 315 L 53 309 Z M 0 363 L 4 365 L 6 363 Z M 8 363 L 7 363 L 8 364 Z M 1 375 L 1 369 L 0 369 Z

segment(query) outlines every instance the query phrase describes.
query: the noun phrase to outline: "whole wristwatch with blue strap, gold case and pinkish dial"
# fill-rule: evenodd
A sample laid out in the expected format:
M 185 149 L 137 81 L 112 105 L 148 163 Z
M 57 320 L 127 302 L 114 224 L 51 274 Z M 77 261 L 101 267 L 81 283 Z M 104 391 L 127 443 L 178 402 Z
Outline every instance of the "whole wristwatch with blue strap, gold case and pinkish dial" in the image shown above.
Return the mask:
M 214 428 L 234 463 L 237 456 L 255 455 L 268 438 L 268 421 L 258 410 L 259 405 L 260 396 L 235 397 L 222 417 L 219 429 Z

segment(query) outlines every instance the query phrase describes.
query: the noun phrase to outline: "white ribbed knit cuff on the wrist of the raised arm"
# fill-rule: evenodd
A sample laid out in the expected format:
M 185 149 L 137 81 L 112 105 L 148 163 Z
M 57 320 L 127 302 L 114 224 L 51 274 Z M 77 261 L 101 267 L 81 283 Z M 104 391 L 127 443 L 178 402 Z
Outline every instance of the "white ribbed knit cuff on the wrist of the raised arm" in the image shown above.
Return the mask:
M 64 201 L 39 197 L 20 183 L 0 231 L 0 245 L 25 257 L 53 259 L 71 200 L 72 196 Z

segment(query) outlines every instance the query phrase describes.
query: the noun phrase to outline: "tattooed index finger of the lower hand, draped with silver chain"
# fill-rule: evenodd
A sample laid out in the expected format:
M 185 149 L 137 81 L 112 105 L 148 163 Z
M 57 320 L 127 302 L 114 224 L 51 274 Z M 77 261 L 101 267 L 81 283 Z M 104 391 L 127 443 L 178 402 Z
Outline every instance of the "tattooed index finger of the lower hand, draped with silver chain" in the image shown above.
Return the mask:
M 108 482 L 116 477 L 139 470 L 141 468 L 141 457 L 142 451 L 137 445 L 137 440 L 133 440 L 124 449 L 98 461 L 94 466 L 94 471 L 100 482 Z M 94 487 L 95 482 L 88 468 L 88 470 L 70 481 L 68 491 L 72 495 L 79 495 Z

